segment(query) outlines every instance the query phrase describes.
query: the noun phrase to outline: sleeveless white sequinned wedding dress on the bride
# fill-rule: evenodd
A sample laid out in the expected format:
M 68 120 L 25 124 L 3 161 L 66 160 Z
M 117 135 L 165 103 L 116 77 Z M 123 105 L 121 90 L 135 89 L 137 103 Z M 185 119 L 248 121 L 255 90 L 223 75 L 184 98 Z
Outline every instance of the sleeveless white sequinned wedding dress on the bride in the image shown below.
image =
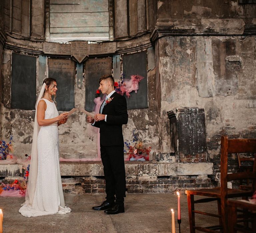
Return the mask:
M 47 109 L 45 119 L 59 116 L 54 102 L 44 100 Z M 58 122 L 41 126 L 37 136 L 37 179 L 32 205 L 25 203 L 19 212 L 25 217 L 49 214 L 66 214 L 71 211 L 65 206 L 60 166 Z

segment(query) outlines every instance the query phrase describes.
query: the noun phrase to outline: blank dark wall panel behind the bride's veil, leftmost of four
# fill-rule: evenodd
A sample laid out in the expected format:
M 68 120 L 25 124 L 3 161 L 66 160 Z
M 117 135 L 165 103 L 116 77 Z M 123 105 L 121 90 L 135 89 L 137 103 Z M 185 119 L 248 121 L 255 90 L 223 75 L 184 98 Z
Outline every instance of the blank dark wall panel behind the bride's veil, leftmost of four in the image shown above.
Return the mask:
M 36 104 L 36 57 L 12 54 L 11 108 L 34 110 Z

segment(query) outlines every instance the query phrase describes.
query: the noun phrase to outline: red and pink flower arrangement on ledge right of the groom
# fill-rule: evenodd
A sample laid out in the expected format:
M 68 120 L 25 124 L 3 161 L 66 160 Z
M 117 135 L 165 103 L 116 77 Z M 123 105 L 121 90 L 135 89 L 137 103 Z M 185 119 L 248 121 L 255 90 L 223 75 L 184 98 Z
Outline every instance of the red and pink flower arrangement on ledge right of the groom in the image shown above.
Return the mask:
M 124 150 L 128 154 L 126 161 L 146 161 L 149 160 L 149 153 L 151 146 L 144 146 L 142 140 L 135 134 L 135 130 L 132 131 L 133 140 L 132 142 L 125 141 L 124 144 L 128 150 Z

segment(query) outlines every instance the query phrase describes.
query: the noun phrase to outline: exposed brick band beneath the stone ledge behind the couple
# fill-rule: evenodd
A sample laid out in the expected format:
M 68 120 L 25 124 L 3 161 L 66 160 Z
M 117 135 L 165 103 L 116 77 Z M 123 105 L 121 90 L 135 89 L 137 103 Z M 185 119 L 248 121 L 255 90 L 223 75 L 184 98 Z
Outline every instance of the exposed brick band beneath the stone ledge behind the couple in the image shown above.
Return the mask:
M 105 193 L 105 179 L 103 177 L 87 176 L 63 178 L 62 186 L 65 193 Z M 212 187 L 211 179 L 207 175 L 198 176 L 164 176 L 156 179 L 140 179 L 127 177 L 127 193 L 163 193 L 186 189 Z

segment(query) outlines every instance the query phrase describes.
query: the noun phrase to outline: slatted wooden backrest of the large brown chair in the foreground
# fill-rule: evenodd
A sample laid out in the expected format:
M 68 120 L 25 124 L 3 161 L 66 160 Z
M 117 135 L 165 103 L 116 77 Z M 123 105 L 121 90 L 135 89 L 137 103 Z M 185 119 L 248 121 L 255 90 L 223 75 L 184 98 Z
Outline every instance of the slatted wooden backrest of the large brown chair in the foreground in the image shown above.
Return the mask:
M 221 136 L 221 189 L 227 194 L 227 182 L 231 180 L 252 179 L 252 191 L 255 191 L 256 159 L 254 159 L 253 172 L 236 172 L 228 174 L 228 154 L 231 153 L 256 153 L 256 138 L 228 139 Z

